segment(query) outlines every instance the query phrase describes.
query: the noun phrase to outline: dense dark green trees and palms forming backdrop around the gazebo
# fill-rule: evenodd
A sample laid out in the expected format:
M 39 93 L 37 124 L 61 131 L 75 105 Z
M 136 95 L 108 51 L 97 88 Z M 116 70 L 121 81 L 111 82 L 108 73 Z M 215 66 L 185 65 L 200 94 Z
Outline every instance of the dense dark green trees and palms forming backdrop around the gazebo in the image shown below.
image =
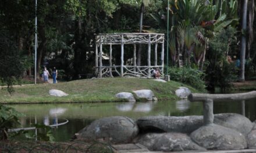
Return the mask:
M 218 57 L 215 63 L 219 64 L 219 70 L 223 70 L 224 60 L 227 59 L 227 56 L 233 58 L 236 55 L 237 59 L 240 58 L 241 43 L 239 40 L 243 35 L 248 38 L 245 63 L 250 63 L 246 65 L 246 78 L 253 78 L 253 75 L 250 74 L 255 74 L 256 65 L 254 1 L 248 3 L 248 31 L 241 30 L 239 25 L 239 17 L 243 12 L 243 1 L 184 0 L 169 2 L 170 5 L 167 6 L 167 0 L 42 0 L 38 1 L 35 10 L 34 1 L 3 0 L 0 3 L 0 25 L 2 30 L 10 31 L 11 34 L 4 35 L 6 38 L 3 36 L 1 38 L 6 40 L 12 38 L 13 41 L 8 41 L 10 48 L 1 48 L 1 52 L 2 54 L 6 52 L 9 56 L 14 53 L 15 55 L 9 60 L 26 59 L 21 61 L 22 64 L 16 68 L 16 72 L 10 71 L 15 73 L 15 78 L 20 77 L 20 71 L 24 68 L 26 69 L 24 75 L 34 74 L 32 65 L 26 63 L 31 63 L 34 56 L 36 14 L 38 20 L 38 77 L 42 67 L 46 66 L 48 70 L 51 70 L 55 66 L 59 72 L 62 72 L 59 75 L 62 79 L 77 79 L 80 74 L 94 73 L 95 34 L 140 31 L 166 34 L 167 12 L 169 11 L 168 52 L 170 52 L 170 60 L 167 61 L 169 64 L 176 67 L 197 65 L 197 69 L 205 72 L 205 76 L 219 77 L 217 72 L 220 71 L 216 71 L 218 68 L 212 69 L 211 56 L 215 53 L 222 56 L 222 58 Z M 229 27 L 236 29 L 233 30 L 236 37 L 233 45 L 229 42 L 226 45 L 232 52 L 226 53 L 223 50 L 223 52 L 219 52 L 221 46 L 220 48 L 215 47 L 218 37 L 224 34 Z M 8 50 L 15 51 L 9 53 Z M 116 52 L 118 50 L 120 48 L 113 47 L 113 60 L 117 63 L 120 60 L 120 53 Z M 127 47 L 126 50 L 125 60 L 130 57 L 132 48 Z M 145 46 L 140 45 L 138 49 L 140 61 L 137 61 L 137 64 L 138 62 L 142 65 L 147 63 L 146 50 Z M 108 50 L 104 50 L 104 53 L 108 53 Z M 26 58 L 18 58 L 21 55 L 22 57 L 25 55 Z M 15 62 L 20 63 L 19 60 L 15 60 Z M 9 64 L 5 65 L 8 68 L 10 66 Z M 226 70 L 230 71 L 230 68 L 226 68 Z M 8 77 L 13 78 L 13 75 L 8 74 Z M 233 77 L 228 77 L 226 81 L 233 81 L 230 78 Z M 205 81 L 213 83 L 213 79 L 209 77 L 205 78 Z M 218 83 L 215 81 L 215 85 L 223 84 L 220 79 L 217 81 Z M 8 84 L 11 85 L 12 81 L 5 79 L 4 82 L 9 82 Z

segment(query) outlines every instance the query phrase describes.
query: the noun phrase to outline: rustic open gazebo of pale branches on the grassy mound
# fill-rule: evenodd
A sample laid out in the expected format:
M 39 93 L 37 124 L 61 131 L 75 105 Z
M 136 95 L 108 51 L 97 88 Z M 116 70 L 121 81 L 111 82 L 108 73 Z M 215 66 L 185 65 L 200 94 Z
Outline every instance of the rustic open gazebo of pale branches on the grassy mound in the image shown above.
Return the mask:
M 120 33 L 120 34 L 99 34 L 96 36 L 95 48 L 95 68 L 97 77 L 113 77 L 112 73 L 124 77 L 130 75 L 133 77 L 147 77 L 150 78 L 154 68 L 159 68 L 163 76 L 163 53 L 164 53 L 164 34 L 154 33 Z M 124 45 L 133 45 L 133 65 L 124 65 Z M 147 51 L 147 65 L 136 65 L 136 44 L 148 44 Z M 161 65 L 158 65 L 158 44 L 162 45 L 161 48 Z M 109 46 L 109 65 L 102 65 L 102 45 Z M 115 65 L 112 63 L 112 45 L 121 45 L 121 63 Z M 154 64 L 151 65 L 151 45 L 155 45 L 154 50 Z M 99 48 L 99 54 L 98 54 Z

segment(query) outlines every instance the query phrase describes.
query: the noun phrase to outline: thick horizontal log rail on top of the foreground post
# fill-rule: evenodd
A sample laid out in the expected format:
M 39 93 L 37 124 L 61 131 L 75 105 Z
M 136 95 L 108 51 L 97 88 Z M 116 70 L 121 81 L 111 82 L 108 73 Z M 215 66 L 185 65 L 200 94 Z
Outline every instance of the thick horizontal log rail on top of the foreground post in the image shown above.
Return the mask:
M 234 93 L 234 94 L 205 94 L 205 93 L 191 93 L 189 95 L 190 101 L 205 101 L 207 99 L 212 99 L 214 101 L 240 101 L 247 99 L 256 98 L 256 91 L 247 93 Z

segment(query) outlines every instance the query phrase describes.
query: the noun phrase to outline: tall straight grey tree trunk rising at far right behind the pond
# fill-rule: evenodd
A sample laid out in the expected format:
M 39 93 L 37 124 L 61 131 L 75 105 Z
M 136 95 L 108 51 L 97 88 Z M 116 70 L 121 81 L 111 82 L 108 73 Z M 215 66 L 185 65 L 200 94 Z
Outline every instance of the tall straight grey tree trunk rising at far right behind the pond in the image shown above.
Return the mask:
M 244 81 L 244 64 L 246 60 L 246 25 L 247 25 L 247 0 L 243 4 L 243 19 L 242 19 L 242 36 L 241 36 L 241 50 L 240 50 L 240 77 L 239 81 Z

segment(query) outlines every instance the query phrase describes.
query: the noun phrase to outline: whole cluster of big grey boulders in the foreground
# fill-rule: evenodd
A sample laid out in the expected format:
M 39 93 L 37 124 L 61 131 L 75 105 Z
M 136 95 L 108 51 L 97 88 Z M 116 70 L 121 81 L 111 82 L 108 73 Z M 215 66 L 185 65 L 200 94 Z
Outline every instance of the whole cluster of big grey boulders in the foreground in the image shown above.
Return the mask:
M 202 116 L 124 116 L 101 118 L 76 134 L 81 141 L 139 143 L 151 151 L 234 150 L 256 148 L 256 126 L 240 114 L 215 114 L 204 125 Z

